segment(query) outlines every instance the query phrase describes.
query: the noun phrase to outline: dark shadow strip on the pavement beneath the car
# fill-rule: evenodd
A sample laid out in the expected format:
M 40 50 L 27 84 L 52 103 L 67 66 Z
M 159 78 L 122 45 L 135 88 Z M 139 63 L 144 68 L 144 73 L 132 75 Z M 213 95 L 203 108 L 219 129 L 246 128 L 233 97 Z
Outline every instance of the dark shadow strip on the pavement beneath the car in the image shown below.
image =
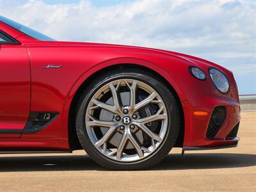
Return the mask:
M 161 163 L 148 170 L 216 169 L 255 166 L 255 154 L 169 154 Z M 84 156 L 1 157 L 0 172 L 38 171 L 106 171 Z

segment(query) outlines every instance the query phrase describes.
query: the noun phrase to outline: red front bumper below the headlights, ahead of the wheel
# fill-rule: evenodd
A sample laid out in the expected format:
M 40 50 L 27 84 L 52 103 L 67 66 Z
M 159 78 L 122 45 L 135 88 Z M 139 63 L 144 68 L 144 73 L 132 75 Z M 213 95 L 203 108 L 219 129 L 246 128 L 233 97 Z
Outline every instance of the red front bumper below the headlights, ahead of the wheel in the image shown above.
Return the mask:
M 214 109 L 219 106 L 224 106 L 226 109 L 225 120 L 223 120 L 217 131 L 209 136 L 209 124 L 214 115 Z M 184 150 L 236 147 L 239 141 L 236 135 L 240 121 L 239 104 L 218 104 L 212 108 L 188 107 L 184 108 L 184 111 L 186 120 L 183 143 Z M 195 111 L 206 111 L 208 115 L 195 115 Z

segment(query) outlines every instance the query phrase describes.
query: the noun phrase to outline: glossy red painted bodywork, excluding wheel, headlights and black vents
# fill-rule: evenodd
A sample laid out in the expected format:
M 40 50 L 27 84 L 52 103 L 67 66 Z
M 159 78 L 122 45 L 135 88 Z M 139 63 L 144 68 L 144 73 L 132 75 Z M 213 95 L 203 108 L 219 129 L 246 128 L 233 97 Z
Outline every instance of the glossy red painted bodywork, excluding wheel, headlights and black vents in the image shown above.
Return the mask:
M 124 64 L 154 70 L 172 85 L 184 113 L 183 147 L 232 145 L 239 140 L 225 140 L 240 120 L 240 108 L 234 76 L 223 67 L 158 49 L 39 41 L 2 22 L 0 29 L 20 42 L 1 45 L 0 49 L 0 129 L 24 129 L 30 111 L 59 113 L 42 131 L 0 134 L 0 148 L 70 150 L 68 117 L 77 90 L 96 72 Z M 47 65 L 61 65 L 61 68 L 44 68 Z M 188 70 L 191 65 L 204 70 L 207 79 L 198 81 L 191 76 Z M 209 67 L 218 68 L 227 76 L 230 83 L 227 94 L 215 88 L 208 75 Z M 227 118 L 216 138 L 209 140 L 205 134 L 216 106 L 227 106 Z M 208 115 L 197 116 L 194 111 L 205 111 Z

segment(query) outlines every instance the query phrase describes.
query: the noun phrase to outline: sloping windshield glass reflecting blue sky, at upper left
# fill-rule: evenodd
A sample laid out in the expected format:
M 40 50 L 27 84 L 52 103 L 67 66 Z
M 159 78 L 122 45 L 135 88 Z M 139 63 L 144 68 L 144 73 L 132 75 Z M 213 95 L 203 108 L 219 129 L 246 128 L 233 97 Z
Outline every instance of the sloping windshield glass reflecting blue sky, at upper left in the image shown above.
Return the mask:
M 13 20 L 7 19 L 0 15 L 0 21 L 4 22 L 5 24 L 8 24 L 8 26 L 11 26 L 12 28 L 15 28 L 19 30 L 22 33 L 25 33 L 26 35 L 32 36 L 33 38 L 36 38 L 38 40 L 42 41 L 55 41 L 53 38 L 46 36 L 42 33 L 39 33 L 38 31 L 35 31 L 34 29 L 30 29 L 22 24 L 19 24 L 19 22 L 15 22 Z

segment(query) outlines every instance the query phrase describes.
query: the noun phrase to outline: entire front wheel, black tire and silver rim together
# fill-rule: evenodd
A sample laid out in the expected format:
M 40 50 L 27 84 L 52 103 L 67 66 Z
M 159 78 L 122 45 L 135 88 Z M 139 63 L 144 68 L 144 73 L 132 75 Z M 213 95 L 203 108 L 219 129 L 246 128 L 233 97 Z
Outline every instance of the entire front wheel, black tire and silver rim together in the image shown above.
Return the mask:
M 156 76 L 118 69 L 84 90 L 76 115 L 79 141 L 109 169 L 138 170 L 159 163 L 177 140 L 180 113 L 170 89 Z

